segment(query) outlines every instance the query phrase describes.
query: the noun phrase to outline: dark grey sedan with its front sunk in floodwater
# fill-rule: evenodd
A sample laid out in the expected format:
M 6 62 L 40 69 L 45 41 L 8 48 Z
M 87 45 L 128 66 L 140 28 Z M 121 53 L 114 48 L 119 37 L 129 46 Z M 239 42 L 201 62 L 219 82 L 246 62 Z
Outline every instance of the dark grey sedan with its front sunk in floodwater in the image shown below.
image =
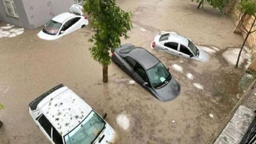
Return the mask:
M 180 93 L 180 84 L 169 68 L 142 47 L 121 45 L 113 53 L 112 61 L 161 101 L 174 99 Z

